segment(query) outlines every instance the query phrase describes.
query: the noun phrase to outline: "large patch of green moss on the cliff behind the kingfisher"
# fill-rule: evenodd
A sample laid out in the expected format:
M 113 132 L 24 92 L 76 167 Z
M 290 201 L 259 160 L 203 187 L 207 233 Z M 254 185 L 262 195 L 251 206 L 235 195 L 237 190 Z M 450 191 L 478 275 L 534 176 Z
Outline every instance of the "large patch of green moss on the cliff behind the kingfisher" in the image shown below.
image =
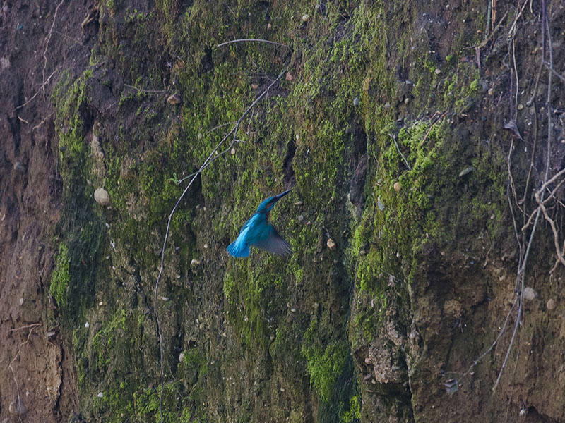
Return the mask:
M 114 71 L 129 85 L 178 90 L 182 103 L 124 88 L 112 110 L 115 122 L 93 128 L 104 152 L 97 168 L 84 140 L 93 124 L 90 87 L 97 80 L 85 73 L 57 87 L 64 202 L 73 212 L 61 221 L 59 234 L 68 246 L 70 281 L 81 281 L 69 283 L 66 300 L 81 305 L 72 313 L 81 328 L 73 341 L 81 405 L 93 420 L 158 420 L 160 368 L 150 316 L 167 216 L 186 186 L 174 181 L 201 166 L 230 122 L 266 87 L 265 75 L 272 79 L 290 66 L 295 78 L 283 78 L 256 106 L 236 134 L 235 154 L 206 168 L 172 219 L 160 285 L 160 295 L 172 300 L 159 304 L 166 421 L 205 419 L 207 410 L 216 419 L 275 419 L 287 405 L 273 415 L 268 413 L 275 405 L 269 411 L 252 405 L 272 400 L 275 378 L 287 386 L 280 404 L 299 404 L 307 411 L 292 419 L 307 419 L 305 372 L 320 398 L 312 411 L 320 422 L 358 420 L 361 398 L 348 333 L 363 338 L 352 339 L 353 348 L 371 341 L 387 307 L 396 307 L 391 295 L 408 309 L 422 247 L 449 245 L 458 231 L 468 231 L 453 223 L 458 218 L 472 216 L 471 226 L 494 214 L 487 225 L 489 233 L 496 231 L 502 185 L 488 162 L 499 158 L 475 140 L 460 143 L 450 123 L 456 118 L 451 112 L 464 112 L 480 88 L 475 69 L 460 63 L 458 47 L 446 57 L 447 66 L 429 54 L 429 45 L 412 50 L 410 31 L 400 28 L 420 10 L 404 4 L 330 3 L 323 16 L 311 13 L 311 22 L 299 27 L 296 8 L 273 4 L 266 13 L 263 3 L 226 8 L 221 2 L 160 0 L 155 11 L 119 11 L 123 2 L 107 1 L 92 63 L 115 63 Z M 292 51 L 252 43 L 214 47 L 253 37 L 284 42 Z M 396 68 L 408 74 L 400 78 Z M 413 99 L 405 104 L 405 97 Z M 450 112 L 432 126 L 427 110 Z M 354 175 L 364 156 L 366 176 Z M 469 164 L 475 171 L 458 178 Z M 348 202 L 352 178 L 364 183 L 364 206 Z M 109 191 L 112 210 L 93 203 L 87 180 Z M 258 202 L 289 185 L 295 185 L 291 195 L 271 219 L 295 255 L 254 251 L 247 260 L 227 257 L 225 246 Z M 297 201 L 302 205 L 293 205 Z M 448 204 L 468 206 L 453 210 Z M 338 243 L 335 251 L 326 247 L 330 236 Z M 192 257 L 201 265 L 189 268 Z M 354 284 L 356 311 L 350 316 Z M 104 309 L 96 306 L 97 296 Z M 83 329 L 87 315 L 93 333 Z M 196 319 L 213 327 L 210 332 L 225 330 L 234 338 L 198 331 Z M 348 324 L 359 330 L 348 331 Z M 185 357 L 178 363 L 181 350 Z M 234 371 L 209 364 L 217 357 L 234 357 L 237 372 L 258 375 L 257 384 L 248 386 L 242 376 L 242 389 L 230 393 L 225 376 Z M 101 399 L 99 390 L 105 393 Z

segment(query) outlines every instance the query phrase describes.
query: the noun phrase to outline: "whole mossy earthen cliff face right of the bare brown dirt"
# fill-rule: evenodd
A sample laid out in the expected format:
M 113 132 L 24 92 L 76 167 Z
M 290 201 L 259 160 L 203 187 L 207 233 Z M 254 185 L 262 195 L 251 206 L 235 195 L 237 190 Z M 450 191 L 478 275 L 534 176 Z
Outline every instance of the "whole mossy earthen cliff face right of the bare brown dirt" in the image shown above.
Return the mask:
M 521 400 L 565 419 L 537 391 L 557 385 L 532 344 L 563 345 L 541 302 L 525 314 L 517 370 L 506 369 L 494 397 L 502 347 L 456 396 L 444 388 L 496 338 L 516 273 L 507 51 L 468 48 L 484 39 L 483 3 L 95 4 L 90 66 L 61 76 L 52 95 L 68 217 L 50 292 L 86 420 L 160 420 L 153 290 L 167 216 L 187 182 L 175 180 L 198 170 L 280 73 L 171 221 L 157 292 L 165 421 L 500 421 Z M 506 31 L 512 7 L 499 4 Z M 525 16 L 516 41 L 524 99 L 540 11 Z M 244 38 L 285 45 L 217 47 Z M 516 154 L 521 190 L 529 154 Z M 94 202 L 98 187 L 111 207 Z M 288 188 L 271 219 L 292 256 L 229 257 L 258 202 Z M 539 243 L 533 254 L 551 249 Z M 551 265 L 533 266 L 548 298 L 558 295 L 545 283 Z M 535 390 L 527 367 L 542 379 Z

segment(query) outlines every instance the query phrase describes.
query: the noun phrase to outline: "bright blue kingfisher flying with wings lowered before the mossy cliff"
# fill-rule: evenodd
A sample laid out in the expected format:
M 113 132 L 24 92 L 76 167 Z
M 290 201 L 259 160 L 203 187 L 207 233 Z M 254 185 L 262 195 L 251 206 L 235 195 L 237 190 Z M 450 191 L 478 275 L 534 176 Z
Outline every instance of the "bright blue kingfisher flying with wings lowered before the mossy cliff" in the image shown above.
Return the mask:
M 227 246 L 227 252 L 234 257 L 249 257 L 249 247 L 253 246 L 273 254 L 290 254 L 292 252 L 290 244 L 278 234 L 275 226 L 269 223 L 270 211 L 275 207 L 276 202 L 289 192 L 290 190 L 287 190 L 263 200 L 254 215 L 245 222 L 234 242 Z

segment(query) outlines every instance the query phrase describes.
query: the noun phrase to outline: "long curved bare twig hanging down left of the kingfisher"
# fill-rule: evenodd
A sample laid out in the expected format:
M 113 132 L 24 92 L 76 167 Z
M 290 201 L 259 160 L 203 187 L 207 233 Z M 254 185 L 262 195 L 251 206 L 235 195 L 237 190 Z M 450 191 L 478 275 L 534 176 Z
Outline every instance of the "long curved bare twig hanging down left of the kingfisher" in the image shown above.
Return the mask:
M 155 319 L 157 321 L 157 332 L 159 333 L 159 351 L 160 351 L 160 364 L 161 364 L 161 392 L 160 392 L 160 396 L 159 396 L 159 412 L 160 412 L 160 415 L 161 415 L 161 422 L 163 422 L 162 405 L 163 405 L 163 386 L 164 386 L 164 380 L 165 380 L 165 371 L 164 371 L 164 368 L 163 368 L 163 335 L 162 335 L 162 329 L 161 329 L 161 324 L 160 324 L 160 320 L 159 320 L 159 309 L 157 307 L 157 291 L 159 290 L 159 281 L 161 279 L 161 274 L 162 274 L 163 268 L 165 266 L 165 248 L 167 247 L 167 238 L 169 237 L 169 228 L 171 226 L 172 216 L 173 216 L 175 210 L 177 210 L 177 207 L 179 207 L 179 204 L 180 204 L 182 198 L 184 197 L 186 192 L 189 190 L 192 183 L 194 183 L 194 180 L 196 180 L 196 177 L 198 177 L 198 175 L 200 175 L 204 169 L 206 169 L 208 166 L 210 166 L 212 161 L 214 161 L 215 159 L 218 159 L 218 157 L 221 157 L 223 154 L 225 154 L 227 151 L 229 151 L 232 148 L 234 143 L 237 141 L 236 136 L 237 136 L 237 131 L 239 130 L 239 125 L 242 123 L 245 116 L 247 116 L 247 114 L 249 114 L 249 111 L 251 111 L 251 109 L 253 109 L 255 107 L 255 105 L 259 102 L 259 100 L 261 100 L 263 97 L 265 97 L 269 88 L 271 86 L 275 85 L 275 82 L 280 80 L 280 78 L 285 73 L 286 73 L 286 71 L 281 72 L 280 75 L 278 75 L 278 77 L 273 82 L 270 83 L 270 85 L 266 88 L 266 90 L 264 90 L 263 92 L 261 92 L 261 94 L 259 94 L 259 96 L 254 100 L 254 102 L 251 103 L 251 105 L 243 112 L 242 116 L 239 117 L 239 119 L 235 123 L 234 127 L 230 130 L 230 132 L 228 132 L 225 135 L 225 137 L 223 137 L 222 140 L 220 142 L 218 142 L 218 145 L 216 145 L 214 147 L 214 149 L 212 150 L 212 152 L 210 152 L 210 154 L 208 155 L 206 160 L 203 162 L 203 164 L 200 166 L 198 171 L 196 171 L 194 173 L 194 176 L 192 177 L 192 179 L 190 180 L 188 185 L 186 185 L 186 188 L 184 188 L 184 191 L 180 195 L 179 200 L 177 200 L 177 203 L 174 204 L 174 207 L 172 208 L 172 211 L 169 214 L 169 220 L 167 221 L 167 231 L 165 231 L 165 240 L 163 241 L 163 247 L 162 247 L 162 250 L 161 250 L 161 266 L 160 266 L 160 269 L 159 269 L 159 274 L 157 275 L 157 282 L 155 283 L 155 295 L 153 297 L 153 304 L 154 304 L 154 309 L 155 309 Z M 232 142 L 230 143 L 230 146 L 227 147 L 227 149 L 225 149 L 224 151 L 222 151 L 218 154 L 218 150 L 220 149 L 220 147 L 224 144 L 224 142 L 227 140 L 227 138 L 230 137 L 230 135 L 232 135 L 232 134 L 233 134 L 233 139 L 232 139 Z

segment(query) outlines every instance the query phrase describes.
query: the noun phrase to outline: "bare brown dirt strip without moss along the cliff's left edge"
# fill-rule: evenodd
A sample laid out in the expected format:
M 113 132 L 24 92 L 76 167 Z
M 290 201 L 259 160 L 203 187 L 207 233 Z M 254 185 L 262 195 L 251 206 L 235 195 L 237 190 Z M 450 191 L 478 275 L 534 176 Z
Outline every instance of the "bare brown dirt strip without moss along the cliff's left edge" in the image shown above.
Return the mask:
M 81 23 L 90 3 L 4 1 L 0 10 L 2 422 L 19 420 L 10 412 L 18 396 L 26 422 L 66 421 L 78 409 L 72 350 L 47 288 L 61 203 L 50 92 L 61 71 L 88 63 L 97 27 Z

